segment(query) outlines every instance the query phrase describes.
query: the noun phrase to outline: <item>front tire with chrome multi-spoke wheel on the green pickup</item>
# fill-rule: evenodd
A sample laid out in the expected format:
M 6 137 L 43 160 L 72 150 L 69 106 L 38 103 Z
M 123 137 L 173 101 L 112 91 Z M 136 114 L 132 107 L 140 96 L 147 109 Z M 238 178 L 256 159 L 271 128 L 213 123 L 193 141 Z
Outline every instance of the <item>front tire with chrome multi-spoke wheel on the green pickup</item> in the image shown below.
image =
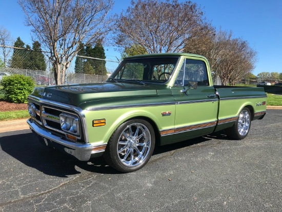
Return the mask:
M 129 120 L 112 134 L 104 158 L 114 169 L 121 172 L 136 171 L 148 163 L 155 146 L 152 125 L 143 120 Z

